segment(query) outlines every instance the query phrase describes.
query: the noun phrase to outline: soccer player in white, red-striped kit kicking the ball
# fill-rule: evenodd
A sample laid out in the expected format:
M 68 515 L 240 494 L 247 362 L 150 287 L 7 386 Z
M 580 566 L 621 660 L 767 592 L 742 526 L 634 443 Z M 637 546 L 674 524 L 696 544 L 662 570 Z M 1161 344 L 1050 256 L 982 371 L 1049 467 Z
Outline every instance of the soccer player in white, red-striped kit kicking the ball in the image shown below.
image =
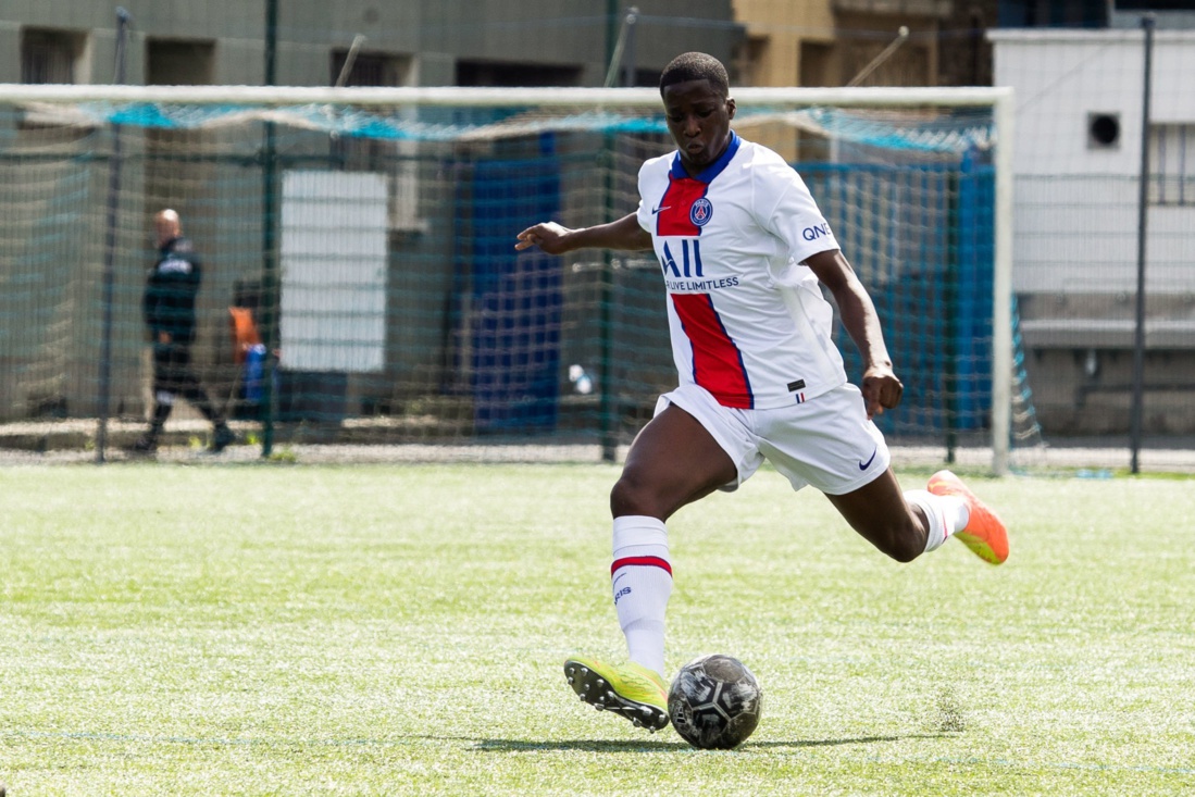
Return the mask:
M 680 385 L 660 397 L 611 492 L 611 583 L 630 661 L 575 656 L 564 666 L 582 700 L 651 730 L 668 723 L 664 522 L 736 489 L 765 459 L 793 489 L 826 493 L 897 562 L 950 537 L 992 564 L 1009 554 L 1004 525 L 954 473 L 901 491 L 871 421 L 903 390 L 875 306 L 801 176 L 731 130 L 723 65 L 686 53 L 663 70 L 660 94 L 678 149 L 641 167 L 638 210 L 588 228 L 538 223 L 515 244 L 551 255 L 655 250 L 663 272 Z M 822 286 L 863 355 L 862 390 L 847 382 Z

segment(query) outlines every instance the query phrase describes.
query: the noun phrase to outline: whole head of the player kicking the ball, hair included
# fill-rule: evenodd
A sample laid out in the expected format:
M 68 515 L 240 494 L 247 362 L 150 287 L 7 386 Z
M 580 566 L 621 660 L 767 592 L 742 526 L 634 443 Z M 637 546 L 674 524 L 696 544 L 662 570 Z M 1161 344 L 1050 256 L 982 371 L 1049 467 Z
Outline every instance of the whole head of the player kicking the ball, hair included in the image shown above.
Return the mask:
M 697 174 L 730 143 L 735 100 L 727 68 L 705 53 L 679 55 L 660 75 L 660 97 L 681 161 Z

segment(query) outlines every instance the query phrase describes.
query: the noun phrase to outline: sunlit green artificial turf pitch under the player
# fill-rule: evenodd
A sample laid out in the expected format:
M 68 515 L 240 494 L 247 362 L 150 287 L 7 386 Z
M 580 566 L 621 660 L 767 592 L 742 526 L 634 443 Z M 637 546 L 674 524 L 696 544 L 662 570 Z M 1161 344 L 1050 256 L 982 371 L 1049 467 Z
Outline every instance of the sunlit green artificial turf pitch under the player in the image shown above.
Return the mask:
M 0 781 L 51 795 L 1195 792 L 1195 480 L 972 478 L 1011 528 L 888 560 L 761 472 L 669 523 L 699 752 L 577 701 L 624 655 L 612 466 L 0 470 Z M 902 473 L 906 486 L 926 473 Z

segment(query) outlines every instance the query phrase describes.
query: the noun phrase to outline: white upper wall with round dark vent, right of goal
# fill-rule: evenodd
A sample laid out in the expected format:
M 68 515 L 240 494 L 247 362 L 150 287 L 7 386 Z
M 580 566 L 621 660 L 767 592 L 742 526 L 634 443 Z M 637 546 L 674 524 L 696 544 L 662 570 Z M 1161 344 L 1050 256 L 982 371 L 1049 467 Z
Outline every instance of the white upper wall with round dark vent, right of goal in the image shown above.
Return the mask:
M 1141 166 L 1140 30 L 998 30 L 995 84 L 1016 91 L 1013 288 L 1135 292 Z M 1154 123 L 1195 124 L 1195 31 L 1154 33 Z M 1089 114 L 1119 114 L 1115 148 Z M 1147 289 L 1195 295 L 1195 207 L 1151 207 Z

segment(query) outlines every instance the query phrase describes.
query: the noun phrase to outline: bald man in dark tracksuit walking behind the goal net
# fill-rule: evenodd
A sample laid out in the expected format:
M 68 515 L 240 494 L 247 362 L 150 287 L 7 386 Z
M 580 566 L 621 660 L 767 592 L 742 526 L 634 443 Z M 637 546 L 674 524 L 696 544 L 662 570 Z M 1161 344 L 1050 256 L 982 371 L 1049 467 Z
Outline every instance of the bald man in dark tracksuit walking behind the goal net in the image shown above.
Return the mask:
M 183 238 L 183 223 L 171 209 L 154 215 L 158 262 L 149 270 L 141 311 L 153 344 L 153 417 L 149 430 L 133 446 L 139 454 L 158 449 L 158 437 L 166 418 L 182 396 L 212 422 L 214 431 L 209 449 L 219 453 L 235 440 L 223 415 L 208 399 L 207 391 L 191 369 L 191 345 L 195 343 L 195 296 L 200 292 L 202 270 L 191 241 Z

